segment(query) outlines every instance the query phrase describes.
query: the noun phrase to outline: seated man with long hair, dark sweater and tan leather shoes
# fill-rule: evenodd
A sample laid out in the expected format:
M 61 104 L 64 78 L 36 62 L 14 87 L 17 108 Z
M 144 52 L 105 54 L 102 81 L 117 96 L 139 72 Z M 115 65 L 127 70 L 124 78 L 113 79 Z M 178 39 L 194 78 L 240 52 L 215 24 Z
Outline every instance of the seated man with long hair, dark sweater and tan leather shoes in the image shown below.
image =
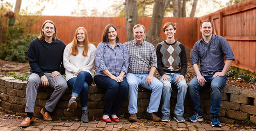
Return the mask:
M 65 73 L 63 67 L 63 52 L 66 44 L 56 38 L 56 27 L 53 21 L 46 20 L 38 38 L 30 42 L 27 51 L 30 64 L 30 77 L 26 89 L 26 118 L 21 127 L 30 126 L 34 122 L 33 112 L 37 97 L 37 89 L 41 86 L 53 88 L 54 91 L 40 114 L 43 120 L 52 121 L 50 113 L 53 112 L 60 97 L 65 93 L 68 85 L 61 74 Z

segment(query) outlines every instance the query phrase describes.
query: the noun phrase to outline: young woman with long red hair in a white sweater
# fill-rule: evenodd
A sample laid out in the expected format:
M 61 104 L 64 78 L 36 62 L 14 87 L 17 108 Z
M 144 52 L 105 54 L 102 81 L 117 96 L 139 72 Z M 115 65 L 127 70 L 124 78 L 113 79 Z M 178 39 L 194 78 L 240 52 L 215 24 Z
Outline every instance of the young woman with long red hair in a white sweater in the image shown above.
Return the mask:
M 82 122 L 89 121 L 87 109 L 88 86 L 91 85 L 94 79 L 95 50 L 96 47 L 88 41 L 86 29 L 78 27 L 73 41 L 66 46 L 63 55 L 66 81 L 69 86 L 73 87 L 67 111 L 74 111 L 77 108 L 75 100 L 80 95 Z

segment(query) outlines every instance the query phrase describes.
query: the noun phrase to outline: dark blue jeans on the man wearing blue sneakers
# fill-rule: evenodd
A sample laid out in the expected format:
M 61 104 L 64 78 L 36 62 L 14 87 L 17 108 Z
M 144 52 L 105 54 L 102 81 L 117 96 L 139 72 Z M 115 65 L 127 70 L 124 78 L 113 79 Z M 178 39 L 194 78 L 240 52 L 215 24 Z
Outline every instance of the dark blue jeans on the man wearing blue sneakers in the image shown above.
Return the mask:
M 222 87 L 226 85 L 227 76 L 224 77 L 214 77 L 213 75 L 205 76 L 204 79 L 207 81 L 204 86 L 200 86 L 197 80 L 197 76 L 195 76 L 188 84 L 188 91 L 190 94 L 190 100 L 192 102 L 192 106 L 194 111 L 202 114 L 202 105 L 200 101 L 199 90 L 201 88 L 206 88 L 210 86 L 211 95 L 210 95 L 210 114 L 216 115 L 219 117 L 219 108 L 222 100 Z

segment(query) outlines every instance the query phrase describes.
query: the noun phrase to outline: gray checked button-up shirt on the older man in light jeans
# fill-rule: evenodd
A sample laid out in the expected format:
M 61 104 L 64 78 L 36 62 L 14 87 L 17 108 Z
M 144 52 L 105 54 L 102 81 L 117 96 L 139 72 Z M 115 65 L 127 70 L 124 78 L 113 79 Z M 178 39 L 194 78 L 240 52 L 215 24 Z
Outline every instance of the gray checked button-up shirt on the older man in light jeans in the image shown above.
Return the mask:
M 151 43 L 143 41 L 138 45 L 134 39 L 123 44 L 129 52 L 128 73 L 146 74 L 149 73 L 150 66 L 157 68 L 155 47 Z

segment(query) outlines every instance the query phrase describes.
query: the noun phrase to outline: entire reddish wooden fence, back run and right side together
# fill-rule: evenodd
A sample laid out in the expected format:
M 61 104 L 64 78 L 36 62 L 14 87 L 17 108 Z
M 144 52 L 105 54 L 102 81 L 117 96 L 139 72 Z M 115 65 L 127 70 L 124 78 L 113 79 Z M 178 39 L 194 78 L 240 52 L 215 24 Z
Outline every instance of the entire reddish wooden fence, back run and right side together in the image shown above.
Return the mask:
M 57 38 L 66 44 L 72 41 L 75 30 L 80 26 L 87 29 L 91 43 L 99 43 L 103 29 L 110 23 L 117 28 L 120 43 L 127 41 L 124 17 L 40 17 L 42 17 L 41 20 L 33 25 L 31 33 L 39 32 L 45 20 L 53 20 L 57 28 Z M 192 48 L 194 43 L 202 37 L 199 29 L 204 20 L 210 20 L 213 23 L 213 34 L 223 36 L 229 42 L 235 55 L 233 66 L 256 72 L 256 0 L 247 0 L 199 18 L 165 17 L 162 26 L 166 22 L 177 23 L 175 39 L 186 47 Z M 145 26 L 146 32 L 149 30 L 150 23 L 151 17 L 139 18 L 139 24 Z M 165 38 L 161 30 L 159 39 Z

